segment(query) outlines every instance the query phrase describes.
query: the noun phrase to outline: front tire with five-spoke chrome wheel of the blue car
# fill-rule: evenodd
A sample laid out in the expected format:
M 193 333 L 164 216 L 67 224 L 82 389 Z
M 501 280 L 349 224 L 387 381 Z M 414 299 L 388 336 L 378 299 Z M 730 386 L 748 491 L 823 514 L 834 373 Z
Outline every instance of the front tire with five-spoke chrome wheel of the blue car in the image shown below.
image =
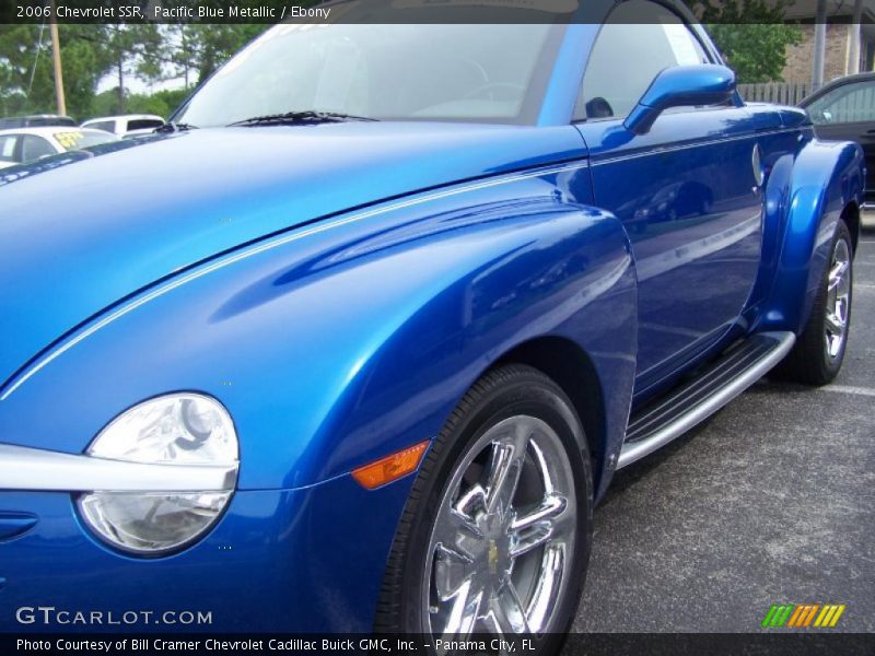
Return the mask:
M 558 652 L 583 591 L 592 542 L 585 445 L 571 401 L 550 378 L 523 365 L 486 374 L 447 420 L 413 483 L 388 559 L 375 631 L 452 635 L 459 629 L 453 640 L 465 640 L 469 630 L 500 628 L 505 635 L 528 633 L 533 645 L 545 649 L 540 653 Z M 495 480 L 516 480 L 515 491 L 490 484 Z M 451 514 L 451 506 L 460 514 Z M 535 522 L 536 507 L 549 508 L 544 522 L 550 522 L 551 534 L 547 524 Z M 529 528 L 520 526 L 525 518 Z M 514 560 L 523 547 L 533 548 Z M 562 563 L 558 579 L 542 575 L 548 559 Z M 546 617 L 520 610 L 536 595 L 549 601 Z M 450 617 L 454 605 L 467 608 L 456 624 Z

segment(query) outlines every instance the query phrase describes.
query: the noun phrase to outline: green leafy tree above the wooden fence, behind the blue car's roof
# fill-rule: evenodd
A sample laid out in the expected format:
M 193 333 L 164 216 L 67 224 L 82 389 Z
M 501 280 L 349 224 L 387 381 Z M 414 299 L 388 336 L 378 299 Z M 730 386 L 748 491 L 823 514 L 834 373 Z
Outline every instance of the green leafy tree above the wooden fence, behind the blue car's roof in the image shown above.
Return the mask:
M 791 0 L 697 0 L 701 21 L 739 83 L 781 80 L 786 47 L 802 31 L 783 23 Z

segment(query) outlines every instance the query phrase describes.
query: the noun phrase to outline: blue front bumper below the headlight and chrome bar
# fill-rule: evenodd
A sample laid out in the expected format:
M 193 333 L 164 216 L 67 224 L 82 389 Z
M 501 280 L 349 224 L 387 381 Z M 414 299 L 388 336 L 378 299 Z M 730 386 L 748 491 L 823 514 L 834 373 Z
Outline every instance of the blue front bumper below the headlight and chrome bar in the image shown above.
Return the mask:
M 343 476 L 303 490 L 237 492 L 203 540 L 160 559 L 107 549 L 81 525 L 70 494 L 0 492 L 0 507 L 40 517 L 28 534 L 0 543 L 8 578 L 0 631 L 82 631 L 73 613 L 95 610 L 103 623 L 88 631 L 365 633 L 395 531 L 390 511 L 410 483 L 366 491 Z M 61 616 L 68 623 L 44 624 L 38 613 L 34 623 L 15 621 L 19 608 L 39 606 L 72 612 Z M 125 611 L 154 614 L 127 624 Z M 166 611 L 177 613 L 167 618 L 176 624 L 163 623 Z M 211 623 L 180 624 L 182 611 L 209 612 Z

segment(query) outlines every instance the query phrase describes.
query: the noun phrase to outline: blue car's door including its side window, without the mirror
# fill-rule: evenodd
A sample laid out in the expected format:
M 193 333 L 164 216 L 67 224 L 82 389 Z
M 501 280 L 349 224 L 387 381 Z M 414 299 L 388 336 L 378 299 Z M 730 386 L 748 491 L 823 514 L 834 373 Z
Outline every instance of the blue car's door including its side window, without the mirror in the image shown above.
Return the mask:
M 596 37 L 575 110 L 595 202 L 622 221 L 632 243 L 639 400 L 727 336 L 759 266 L 751 115 L 743 106 L 686 107 L 663 113 L 645 134 L 623 127 L 658 72 L 709 61 L 670 10 L 625 2 Z

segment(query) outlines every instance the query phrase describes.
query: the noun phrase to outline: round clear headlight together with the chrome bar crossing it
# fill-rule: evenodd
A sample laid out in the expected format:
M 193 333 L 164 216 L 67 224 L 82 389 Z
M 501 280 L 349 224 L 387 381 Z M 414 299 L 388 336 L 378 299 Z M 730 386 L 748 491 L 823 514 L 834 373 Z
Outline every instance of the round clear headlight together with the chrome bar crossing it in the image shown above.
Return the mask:
M 101 541 L 158 557 L 215 526 L 236 487 L 238 454 L 225 407 L 179 391 L 128 408 L 84 455 L 0 444 L 0 490 L 70 492 Z

